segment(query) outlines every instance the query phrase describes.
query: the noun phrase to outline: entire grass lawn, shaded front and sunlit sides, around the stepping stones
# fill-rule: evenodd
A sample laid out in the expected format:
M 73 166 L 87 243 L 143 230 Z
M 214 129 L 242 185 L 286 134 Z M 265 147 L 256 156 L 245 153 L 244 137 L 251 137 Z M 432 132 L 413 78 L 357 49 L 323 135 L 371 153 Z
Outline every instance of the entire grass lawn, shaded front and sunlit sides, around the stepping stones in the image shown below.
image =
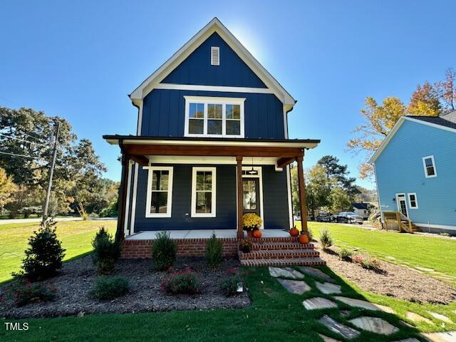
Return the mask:
M 115 221 L 58 223 L 58 236 L 62 239 L 63 246 L 68 249 L 67 258 L 90 251 L 90 240 L 100 225 L 108 227 L 113 232 Z M 12 270 L 19 268 L 26 239 L 36 227 L 35 224 L 0 226 L 0 254 L 6 251 L 19 254 L 19 257 L 12 259 L 1 257 L 0 271 L 4 280 L 9 278 Z M 445 265 L 439 257 L 435 257 L 437 255 L 448 259 L 454 258 L 456 246 L 452 241 L 410 234 L 373 232 L 341 224 L 311 223 L 311 229 L 316 236 L 322 227 L 331 230 L 338 245 L 358 247 L 378 257 L 395 257 L 403 263 L 432 267 L 447 274 L 455 274 L 450 263 Z M 28 323 L 28 331 L 0 329 L 0 341 L 321 341 L 317 333 L 341 340 L 340 336 L 331 333 L 316 320 L 323 314 L 328 314 L 337 321 L 350 325 L 348 320 L 360 316 L 362 312 L 365 316 L 386 319 L 398 326 L 400 332 L 388 337 L 363 332 L 359 338 L 351 340 L 353 342 L 398 341 L 409 337 L 424 341 L 417 335 L 419 331 L 456 329 L 456 324 L 442 325 L 441 321 L 427 313 L 433 311 L 444 314 L 456 322 L 456 303 L 447 306 L 418 304 L 371 294 L 341 279 L 327 267 L 321 269 L 342 286 L 344 296 L 390 306 L 396 314 L 360 311 L 340 302 L 339 309 L 351 309 L 348 317 L 341 316 L 336 309 L 306 311 L 301 304 L 306 298 L 321 296 L 331 299 L 331 296 L 321 294 L 316 289 L 315 280 L 311 276 L 306 276 L 306 282 L 312 288 L 310 292 L 304 295 L 289 294 L 276 279 L 269 276 L 266 268 L 257 267 L 245 269 L 247 286 L 253 301 L 252 306 L 247 309 L 26 319 L 24 321 Z M 425 316 L 434 324 L 422 322 L 416 323 L 415 328 L 405 326 L 400 320 L 408 321 L 405 318 L 407 311 Z M 4 325 L 1 323 L 1 326 Z

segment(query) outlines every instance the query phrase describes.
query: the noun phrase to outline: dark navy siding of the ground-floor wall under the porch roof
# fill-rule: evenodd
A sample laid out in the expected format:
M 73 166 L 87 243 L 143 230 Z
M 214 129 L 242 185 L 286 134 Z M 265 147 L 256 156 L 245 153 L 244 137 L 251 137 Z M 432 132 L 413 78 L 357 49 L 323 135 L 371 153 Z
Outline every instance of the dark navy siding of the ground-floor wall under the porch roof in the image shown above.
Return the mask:
M 173 229 L 236 229 L 235 165 L 197 165 L 198 167 L 217 167 L 216 217 L 191 217 L 193 165 L 160 164 L 160 166 L 174 167 L 171 217 L 145 217 L 147 170 L 140 167 L 135 209 L 135 232 Z M 274 165 L 262 165 L 262 172 L 264 228 L 289 229 L 286 170 L 276 172 Z

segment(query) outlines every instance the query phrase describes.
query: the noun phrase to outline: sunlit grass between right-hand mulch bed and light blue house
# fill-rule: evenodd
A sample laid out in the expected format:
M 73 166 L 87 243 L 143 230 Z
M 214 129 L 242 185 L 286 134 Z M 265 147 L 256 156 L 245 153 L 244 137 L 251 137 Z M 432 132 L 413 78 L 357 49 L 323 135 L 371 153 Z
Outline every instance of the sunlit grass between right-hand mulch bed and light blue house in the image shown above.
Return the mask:
M 358 248 L 379 259 L 410 267 L 434 269 L 456 277 L 456 240 L 373 231 L 344 224 L 309 222 L 309 228 L 317 239 L 323 227 L 329 229 L 339 247 Z M 430 274 L 442 277 L 437 273 Z

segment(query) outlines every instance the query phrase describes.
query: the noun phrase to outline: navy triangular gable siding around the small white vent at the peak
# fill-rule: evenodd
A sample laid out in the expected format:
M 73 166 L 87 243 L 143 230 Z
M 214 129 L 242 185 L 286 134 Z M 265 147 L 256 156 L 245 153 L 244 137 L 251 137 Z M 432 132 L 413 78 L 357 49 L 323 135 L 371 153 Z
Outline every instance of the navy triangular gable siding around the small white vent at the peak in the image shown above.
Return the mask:
M 211 65 L 212 46 L 219 47 L 219 66 Z M 162 83 L 266 88 L 263 81 L 217 33 L 212 33 Z

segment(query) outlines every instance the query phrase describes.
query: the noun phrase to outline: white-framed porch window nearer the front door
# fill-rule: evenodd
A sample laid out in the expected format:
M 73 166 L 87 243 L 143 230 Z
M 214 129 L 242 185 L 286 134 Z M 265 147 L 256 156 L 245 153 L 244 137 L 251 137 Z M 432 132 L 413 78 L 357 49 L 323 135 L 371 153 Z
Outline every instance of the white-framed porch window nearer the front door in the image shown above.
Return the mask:
M 215 167 L 193 167 L 192 217 L 215 217 Z

